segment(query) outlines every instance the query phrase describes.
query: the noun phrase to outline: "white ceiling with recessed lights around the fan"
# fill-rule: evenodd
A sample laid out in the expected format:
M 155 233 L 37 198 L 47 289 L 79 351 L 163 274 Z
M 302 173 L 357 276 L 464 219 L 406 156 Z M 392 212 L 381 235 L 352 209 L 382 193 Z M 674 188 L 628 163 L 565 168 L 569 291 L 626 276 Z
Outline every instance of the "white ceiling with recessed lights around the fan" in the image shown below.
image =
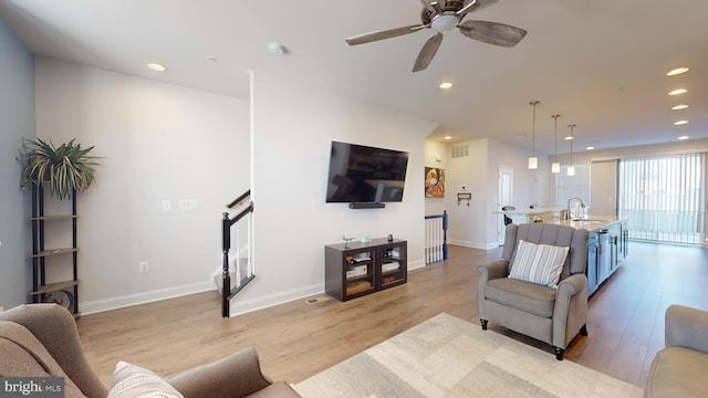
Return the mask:
M 501 0 L 466 20 L 529 34 L 497 48 L 447 32 L 430 66 L 410 69 L 424 30 L 350 46 L 347 36 L 419 22 L 418 0 L 0 0 L 2 18 L 42 56 L 248 98 L 248 71 L 296 78 L 440 123 L 553 153 L 576 124 L 574 149 L 708 138 L 708 1 Z M 287 53 L 269 53 L 279 42 Z M 211 59 L 211 60 L 210 60 Z M 147 62 L 167 66 L 164 73 Z M 667 77 L 677 66 L 687 74 Z M 451 81 L 442 92 L 437 85 Z M 689 90 L 680 98 L 667 93 Z M 670 107 L 687 103 L 686 111 Z M 674 126 L 685 118 L 689 124 Z M 525 134 L 525 136 L 519 136 Z M 559 153 L 569 150 L 559 139 Z

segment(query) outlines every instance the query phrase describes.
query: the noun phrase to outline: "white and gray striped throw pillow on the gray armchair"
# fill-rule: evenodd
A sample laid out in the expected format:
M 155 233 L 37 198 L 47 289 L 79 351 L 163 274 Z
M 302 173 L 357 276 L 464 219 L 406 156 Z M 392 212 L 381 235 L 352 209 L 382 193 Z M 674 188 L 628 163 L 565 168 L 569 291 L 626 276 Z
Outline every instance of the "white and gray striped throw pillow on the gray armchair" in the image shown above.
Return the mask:
M 519 240 L 510 279 L 558 287 L 570 248 Z

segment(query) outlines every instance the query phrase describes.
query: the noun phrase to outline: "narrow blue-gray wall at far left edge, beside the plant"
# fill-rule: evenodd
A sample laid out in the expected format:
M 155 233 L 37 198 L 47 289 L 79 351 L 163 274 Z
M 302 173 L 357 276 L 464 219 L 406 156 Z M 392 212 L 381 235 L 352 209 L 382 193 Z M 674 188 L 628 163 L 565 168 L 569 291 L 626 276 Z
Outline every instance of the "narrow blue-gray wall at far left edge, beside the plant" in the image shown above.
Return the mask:
M 0 20 L 0 306 L 27 302 L 32 252 L 29 200 L 20 189 L 22 138 L 34 138 L 34 60 Z

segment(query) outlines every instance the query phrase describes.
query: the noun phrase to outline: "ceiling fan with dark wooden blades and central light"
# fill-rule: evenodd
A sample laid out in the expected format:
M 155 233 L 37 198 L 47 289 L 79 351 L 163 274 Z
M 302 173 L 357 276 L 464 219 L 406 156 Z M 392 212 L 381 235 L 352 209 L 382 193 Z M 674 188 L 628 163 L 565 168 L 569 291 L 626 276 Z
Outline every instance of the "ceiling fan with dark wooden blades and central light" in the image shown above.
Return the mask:
M 423 71 L 430 64 L 433 57 L 442 43 L 442 33 L 455 28 L 464 35 L 487 44 L 514 46 L 527 35 L 521 28 L 511 27 L 499 22 L 465 21 L 462 19 L 470 12 L 475 12 L 494 4 L 499 0 L 420 0 L 420 24 L 383 30 L 378 32 L 360 34 L 346 39 L 350 45 L 369 43 L 377 40 L 391 39 L 424 29 L 433 29 L 436 33 L 423 45 L 413 72 Z

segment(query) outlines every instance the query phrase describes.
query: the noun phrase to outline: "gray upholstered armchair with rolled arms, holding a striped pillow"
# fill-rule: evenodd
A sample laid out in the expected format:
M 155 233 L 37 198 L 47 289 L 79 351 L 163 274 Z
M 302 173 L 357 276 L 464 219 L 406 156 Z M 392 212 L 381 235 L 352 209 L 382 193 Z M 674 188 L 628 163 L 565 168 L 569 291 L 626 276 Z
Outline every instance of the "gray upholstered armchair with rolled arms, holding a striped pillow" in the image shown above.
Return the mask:
M 524 243 L 520 243 L 521 240 Z M 541 284 L 509 277 L 511 265 L 520 264 L 523 258 L 529 256 L 519 254 L 519 248 L 541 248 L 538 244 L 554 252 L 565 252 L 569 248 L 564 258 L 555 256 L 559 264 L 555 283 Z M 549 255 L 539 254 L 537 258 L 546 259 Z M 586 265 L 586 230 L 549 223 L 507 226 L 502 259 L 477 268 L 480 274 L 477 303 L 482 329 L 492 322 L 548 343 L 555 348 L 555 358 L 562 360 L 568 344 L 579 333 L 587 335 Z M 533 266 L 533 270 L 538 268 Z

